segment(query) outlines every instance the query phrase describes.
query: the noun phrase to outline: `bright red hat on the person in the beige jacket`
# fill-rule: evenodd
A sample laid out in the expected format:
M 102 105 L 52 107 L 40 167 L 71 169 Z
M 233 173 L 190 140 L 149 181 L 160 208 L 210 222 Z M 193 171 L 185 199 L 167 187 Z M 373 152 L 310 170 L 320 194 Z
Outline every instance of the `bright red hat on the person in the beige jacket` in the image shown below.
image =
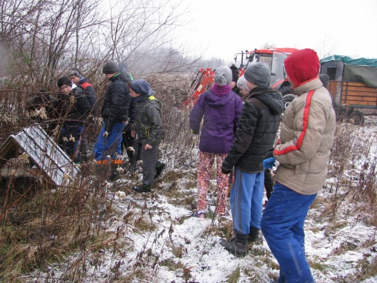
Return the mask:
M 320 60 L 312 49 L 301 49 L 284 60 L 285 71 L 295 86 L 318 76 Z

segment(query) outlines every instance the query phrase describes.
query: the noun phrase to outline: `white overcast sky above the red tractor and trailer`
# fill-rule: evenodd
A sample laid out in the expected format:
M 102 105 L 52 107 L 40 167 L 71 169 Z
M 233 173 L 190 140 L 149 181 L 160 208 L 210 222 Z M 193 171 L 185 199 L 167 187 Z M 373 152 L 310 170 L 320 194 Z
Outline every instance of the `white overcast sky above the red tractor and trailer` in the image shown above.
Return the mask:
M 242 50 L 312 48 L 327 55 L 377 58 L 377 0 L 182 0 L 185 49 L 230 62 Z

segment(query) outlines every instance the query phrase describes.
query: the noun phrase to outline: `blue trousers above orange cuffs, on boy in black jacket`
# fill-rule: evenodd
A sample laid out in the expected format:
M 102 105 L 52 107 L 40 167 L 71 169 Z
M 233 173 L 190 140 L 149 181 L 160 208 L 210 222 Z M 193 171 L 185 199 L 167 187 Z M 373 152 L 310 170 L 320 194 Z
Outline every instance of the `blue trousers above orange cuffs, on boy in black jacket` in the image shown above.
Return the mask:
M 104 137 L 106 123 L 102 126 L 93 148 L 94 158 L 97 161 L 108 159 L 108 155 L 111 156 L 111 159 L 117 159 L 118 156 L 122 155 L 122 133 L 124 127 L 123 123 L 115 123 L 108 133 L 108 137 Z

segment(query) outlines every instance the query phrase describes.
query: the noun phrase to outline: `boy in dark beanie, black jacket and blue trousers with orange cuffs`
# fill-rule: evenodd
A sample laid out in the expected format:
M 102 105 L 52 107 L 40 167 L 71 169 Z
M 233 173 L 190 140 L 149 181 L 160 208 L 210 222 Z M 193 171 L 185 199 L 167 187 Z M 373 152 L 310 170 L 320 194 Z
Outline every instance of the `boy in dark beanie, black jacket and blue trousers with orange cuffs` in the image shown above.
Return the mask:
M 105 63 L 102 72 L 110 81 L 110 85 L 106 90 L 101 108 L 104 125 L 94 144 L 94 157 L 97 164 L 108 164 L 110 161 L 114 167 L 118 167 L 123 164 L 121 144 L 122 133 L 128 123 L 128 110 L 131 101 L 129 81 L 120 73 L 118 65 L 112 61 Z M 114 168 L 111 179 L 117 175 Z

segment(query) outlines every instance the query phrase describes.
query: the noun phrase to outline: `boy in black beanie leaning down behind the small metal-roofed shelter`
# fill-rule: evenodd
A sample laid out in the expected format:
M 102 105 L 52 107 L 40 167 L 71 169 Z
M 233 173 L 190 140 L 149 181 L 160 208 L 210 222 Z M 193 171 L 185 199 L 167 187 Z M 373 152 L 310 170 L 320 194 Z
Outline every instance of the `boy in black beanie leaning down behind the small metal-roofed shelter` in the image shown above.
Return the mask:
M 57 86 L 60 92 L 56 113 L 62 119 L 59 144 L 75 162 L 80 162 L 78 145 L 81 143 L 84 122 L 90 113 L 90 103 L 82 89 L 72 84 L 68 77 L 58 79 Z

